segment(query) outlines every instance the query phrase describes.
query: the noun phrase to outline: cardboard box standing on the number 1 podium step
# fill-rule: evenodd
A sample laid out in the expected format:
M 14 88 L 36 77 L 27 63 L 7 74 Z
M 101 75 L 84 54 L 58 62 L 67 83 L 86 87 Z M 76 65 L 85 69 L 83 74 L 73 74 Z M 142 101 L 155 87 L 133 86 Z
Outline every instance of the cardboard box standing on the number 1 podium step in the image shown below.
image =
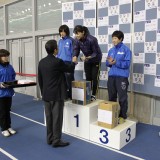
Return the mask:
M 91 102 L 91 82 L 72 81 L 72 103 L 87 105 Z

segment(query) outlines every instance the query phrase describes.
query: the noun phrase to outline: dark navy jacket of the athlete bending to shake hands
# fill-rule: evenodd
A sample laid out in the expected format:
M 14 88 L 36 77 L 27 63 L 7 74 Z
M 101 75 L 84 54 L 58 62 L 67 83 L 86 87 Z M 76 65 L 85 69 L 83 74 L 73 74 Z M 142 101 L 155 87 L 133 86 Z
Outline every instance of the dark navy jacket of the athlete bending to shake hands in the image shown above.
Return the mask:
M 82 40 L 75 40 L 73 56 L 78 57 L 80 50 L 86 57 L 92 57 L 86 63 L 101 62 L 102 52 L 98 45 L 97 38 L 92 35 L 86 35 Z

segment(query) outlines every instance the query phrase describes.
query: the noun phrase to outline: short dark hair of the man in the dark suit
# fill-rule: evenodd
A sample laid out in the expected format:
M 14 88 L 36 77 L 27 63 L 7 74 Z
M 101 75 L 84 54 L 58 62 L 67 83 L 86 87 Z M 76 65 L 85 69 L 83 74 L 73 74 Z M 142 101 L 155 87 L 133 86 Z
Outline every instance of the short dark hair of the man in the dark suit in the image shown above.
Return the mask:
M 54 50 L 57 49 L 57 41 L 56 40 L 49 40 L 45 44 L 45 49 L 48 54 L 53 54 Z

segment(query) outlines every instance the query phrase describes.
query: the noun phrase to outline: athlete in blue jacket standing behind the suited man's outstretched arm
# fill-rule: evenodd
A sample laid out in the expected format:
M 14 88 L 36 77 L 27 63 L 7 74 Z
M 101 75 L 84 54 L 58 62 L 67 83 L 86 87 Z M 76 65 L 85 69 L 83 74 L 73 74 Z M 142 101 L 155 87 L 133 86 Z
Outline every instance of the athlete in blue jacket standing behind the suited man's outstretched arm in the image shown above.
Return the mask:
M 69 27 L 67 25 L 61 25 L 59 27 L 59 35 L 61 39 L 58 42 L 58 55 L 57 57 L 62 59 L 65 64 L 72 63 L 73 56 L 73 44 L 74 39 L 70 37 Z M 65 73 L 67 82 L 68 98 L 72 99 L 72 81 L 74 81 L 74 72 Z

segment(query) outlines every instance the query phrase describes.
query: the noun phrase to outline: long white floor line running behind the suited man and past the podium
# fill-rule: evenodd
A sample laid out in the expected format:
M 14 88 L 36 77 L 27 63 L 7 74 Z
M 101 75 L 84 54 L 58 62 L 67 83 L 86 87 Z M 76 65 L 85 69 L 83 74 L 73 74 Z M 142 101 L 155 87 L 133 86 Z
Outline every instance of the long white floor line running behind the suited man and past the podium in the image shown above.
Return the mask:
M 38 122 L 38 121 L 34 121 L 34 120 L 30 119 L 30 118 L 24 117 L 24 116 L 22 116 L 22 115 L 19 115 L 19 114 L 17 114 L 17 113 L 14 113 L 14 112 L 11 112 L 11 113 L 14 114 L 14 115 L 16 115 L 16 116 L 19 116 L 19 117 L 21 117 L 21 118 L 27 119 L 27 120 L 29 120 L 29 121 L 31 121 L 31 122 L 34 122 L 34 123 L 40 124 L 40 125 L 42 125 L 42 126 L 45 126 L 45 124 L 40 123 L 40 122 Z M 65 132 L 64 132 L 64 133 L 65 133 Z M 68 134 L 68 133 L 65 133 L 65 134 Z M 68 134 L 68 135 L 71 135 L 71 134 Z M 107 146 L 100 145 L 100 144 L 98 144 L 98 143 L 95 143 L 95 142 L 92 142 L 92 141 L 89 141 L 89 140 L 86 140 L 86 139 L 77 137 L 77 136 L 75 136 L 75 135 L 71 135 L 71 136 L 73 136 L 73 137 L 75 137 L 75 138 L 78 138 L 78 139 L 81 139 L 81 140 L 83 140 L 83 141 L 86 141 L 86 142 L 95 144 L 95 145 L 97 145 L 97 146 L 106 148 L 106 149 L 108 149 L 108 150 L 117 152 L 117 153 L 119 153 L 119 154 L 123 154 L 123 155 L 125 155 L 125 156 L 135 158 L 136 160 L 144 160 L 143 158 L 140 158 L 140 157 L 137 157 L 137 156 L 134 156 L 134 155 L 131 155 L 131 154 L 122 152 L 122 151 L 118 151 L 118 150 L 116 150 L 116 149 L 113 149 L 113 148 L 110 148 L 110 147 L 107 147 Z

